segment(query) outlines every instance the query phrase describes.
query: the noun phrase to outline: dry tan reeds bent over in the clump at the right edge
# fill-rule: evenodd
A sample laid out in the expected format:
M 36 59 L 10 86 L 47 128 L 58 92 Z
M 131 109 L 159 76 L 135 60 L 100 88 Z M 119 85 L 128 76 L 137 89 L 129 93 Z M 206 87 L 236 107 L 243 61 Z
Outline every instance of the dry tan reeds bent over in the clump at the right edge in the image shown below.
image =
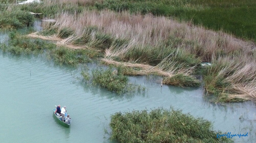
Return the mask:
M 230 93 L 228 100 L 240 98 L 256 102 L 255 58 L 248 57 L 246 54 L 240 55 L 239 58 L 225 56 L 213 59 L 212 63 L 218 66 L 225 65 L 224 67 L 219 67 L 220 69 L 212 67 L 209 71 L 217 73 L 212 79 L 212 83 L 216 83 L 219 79 L 223 79 L 223 83 L 229 83 L 227 87 L 222 89 L 223 93 Z

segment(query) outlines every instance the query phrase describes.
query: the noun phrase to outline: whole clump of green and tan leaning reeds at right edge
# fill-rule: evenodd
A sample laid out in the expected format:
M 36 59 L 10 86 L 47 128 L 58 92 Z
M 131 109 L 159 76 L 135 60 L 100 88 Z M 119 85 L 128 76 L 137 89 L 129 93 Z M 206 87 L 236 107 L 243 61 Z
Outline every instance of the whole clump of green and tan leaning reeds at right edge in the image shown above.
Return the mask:
M 220 101 L 256 101 L 255 60 L 247 55 L 212 60 L 212 66 L 204 69 L 205 89 Z

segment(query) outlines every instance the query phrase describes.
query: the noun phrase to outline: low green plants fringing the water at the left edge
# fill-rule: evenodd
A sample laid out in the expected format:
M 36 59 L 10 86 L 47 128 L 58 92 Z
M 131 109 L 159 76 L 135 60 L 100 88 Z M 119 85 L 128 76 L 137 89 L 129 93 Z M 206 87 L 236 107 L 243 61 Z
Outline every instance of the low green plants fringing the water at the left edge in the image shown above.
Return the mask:
M 69 66 L 76 66 L 80 63 L 92 62 L 88 57 L 88 50 L 86 49 L 70 49 L 64 46 L 57 46 L 56 44 L 45 41 L 39 38 L 31 39 L 19 32 L 11 32 L 9 34 L 10 40 L 8 44 L 1 44 L 0 49 L 4 52 L 12 54 L 42 54 L 46 52 L 57 64 L 64 64 Z

